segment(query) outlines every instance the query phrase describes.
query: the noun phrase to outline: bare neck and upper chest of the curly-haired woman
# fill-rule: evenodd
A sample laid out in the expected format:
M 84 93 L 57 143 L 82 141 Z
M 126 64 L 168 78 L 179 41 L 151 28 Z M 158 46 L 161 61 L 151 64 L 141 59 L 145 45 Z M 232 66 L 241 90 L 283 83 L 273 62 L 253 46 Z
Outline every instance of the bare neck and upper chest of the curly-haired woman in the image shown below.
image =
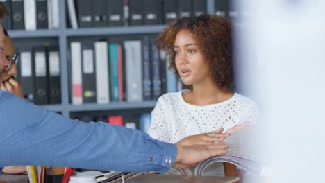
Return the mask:
M 233 92 L 224 90 L 215 84 L 193 85 L 190 92 L 183 95 L 184 100 L 192 105 L 211 105 L 221 103 L 233 96 Z

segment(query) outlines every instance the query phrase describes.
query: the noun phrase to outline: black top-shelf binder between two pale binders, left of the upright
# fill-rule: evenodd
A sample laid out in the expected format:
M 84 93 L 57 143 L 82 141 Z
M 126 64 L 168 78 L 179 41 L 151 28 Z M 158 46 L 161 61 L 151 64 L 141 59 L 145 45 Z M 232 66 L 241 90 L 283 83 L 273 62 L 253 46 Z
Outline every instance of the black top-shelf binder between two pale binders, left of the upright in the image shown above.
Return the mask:
M 49 28 L 47 1 L 49 0 L 36 0 L 36 27 L 38 29 Z

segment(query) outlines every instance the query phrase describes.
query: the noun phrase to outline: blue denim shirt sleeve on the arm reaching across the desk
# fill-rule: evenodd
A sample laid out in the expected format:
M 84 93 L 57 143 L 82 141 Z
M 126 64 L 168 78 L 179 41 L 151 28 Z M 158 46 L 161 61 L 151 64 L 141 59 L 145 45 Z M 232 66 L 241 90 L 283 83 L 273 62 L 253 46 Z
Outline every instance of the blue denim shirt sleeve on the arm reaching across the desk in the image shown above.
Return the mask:
M 139 130 L 67 119 L 0 90 L 0 167 L 42 165 L 165 173 L 176 155 L 174 144 L 152 139 Z

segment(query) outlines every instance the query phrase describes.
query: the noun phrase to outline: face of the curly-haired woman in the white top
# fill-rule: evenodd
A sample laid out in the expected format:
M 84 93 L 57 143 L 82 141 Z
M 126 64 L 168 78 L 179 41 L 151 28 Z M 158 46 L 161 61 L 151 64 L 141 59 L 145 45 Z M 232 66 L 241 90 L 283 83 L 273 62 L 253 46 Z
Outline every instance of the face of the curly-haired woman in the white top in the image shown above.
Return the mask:
M 180 30 L 174 43 L 175 64 L 185 85 L 195 85 L 207 80 L 209 67 L 194 35 L 188 29 Z

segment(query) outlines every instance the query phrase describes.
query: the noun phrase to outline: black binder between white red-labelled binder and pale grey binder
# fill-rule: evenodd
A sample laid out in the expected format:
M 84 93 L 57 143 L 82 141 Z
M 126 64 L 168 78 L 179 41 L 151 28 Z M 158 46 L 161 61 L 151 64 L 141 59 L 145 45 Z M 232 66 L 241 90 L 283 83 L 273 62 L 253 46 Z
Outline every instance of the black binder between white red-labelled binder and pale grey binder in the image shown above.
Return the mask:
M 96 67 L 94 60 L 94 42 L 81 42 L 81 72 L 83 80 L 83 103 L 96 103 Z

